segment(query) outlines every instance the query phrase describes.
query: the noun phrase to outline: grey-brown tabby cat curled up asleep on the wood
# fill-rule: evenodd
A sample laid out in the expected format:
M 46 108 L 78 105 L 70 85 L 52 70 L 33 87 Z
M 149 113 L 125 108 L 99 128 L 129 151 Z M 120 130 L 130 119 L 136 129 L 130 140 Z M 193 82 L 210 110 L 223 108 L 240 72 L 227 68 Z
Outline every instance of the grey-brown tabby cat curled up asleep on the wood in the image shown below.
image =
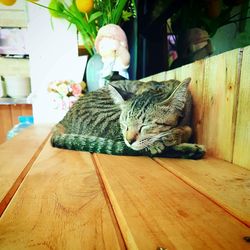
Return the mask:
M 201 158 L 204 146 L 187 143 L 190 80 L 113 81 L 78 99 L 53 129 L 51 144 L 91 153 Z

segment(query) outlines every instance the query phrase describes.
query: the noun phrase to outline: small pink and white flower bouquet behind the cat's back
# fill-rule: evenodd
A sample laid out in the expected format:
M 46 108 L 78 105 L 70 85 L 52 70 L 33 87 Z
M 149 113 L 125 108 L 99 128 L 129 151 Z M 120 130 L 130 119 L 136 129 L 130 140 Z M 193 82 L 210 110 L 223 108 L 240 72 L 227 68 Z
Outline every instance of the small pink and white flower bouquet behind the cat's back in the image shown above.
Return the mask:
M 54 81 L 49 84 L 48 91 L 54 109 L 69 110 L 78 98 L 86 92 L 86 83 L 75 83 L 71 80 Z

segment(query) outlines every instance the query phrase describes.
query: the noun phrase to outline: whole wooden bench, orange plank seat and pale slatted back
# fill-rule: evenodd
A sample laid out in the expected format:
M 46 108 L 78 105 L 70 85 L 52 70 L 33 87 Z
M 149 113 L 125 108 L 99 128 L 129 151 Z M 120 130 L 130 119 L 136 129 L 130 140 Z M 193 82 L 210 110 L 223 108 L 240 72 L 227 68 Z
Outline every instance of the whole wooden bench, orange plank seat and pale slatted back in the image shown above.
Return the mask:
M 249 63 L 247 47 L 150 77 L 192 77 L 202 160 L 52 148 L 50 126 L 0 145 L 0 249 L 250 249 Z

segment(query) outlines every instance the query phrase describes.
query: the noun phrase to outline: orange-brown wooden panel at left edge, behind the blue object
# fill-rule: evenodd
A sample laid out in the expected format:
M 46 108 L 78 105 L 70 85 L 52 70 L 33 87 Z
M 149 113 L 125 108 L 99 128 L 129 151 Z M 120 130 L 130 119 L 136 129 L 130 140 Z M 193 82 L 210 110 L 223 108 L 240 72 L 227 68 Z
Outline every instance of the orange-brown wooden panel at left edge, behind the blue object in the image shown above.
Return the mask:
M 18 124 L 21 115 L 32 115 L 32 105 L 0 105 L 0 144 L 6 141 L 7 132 Z

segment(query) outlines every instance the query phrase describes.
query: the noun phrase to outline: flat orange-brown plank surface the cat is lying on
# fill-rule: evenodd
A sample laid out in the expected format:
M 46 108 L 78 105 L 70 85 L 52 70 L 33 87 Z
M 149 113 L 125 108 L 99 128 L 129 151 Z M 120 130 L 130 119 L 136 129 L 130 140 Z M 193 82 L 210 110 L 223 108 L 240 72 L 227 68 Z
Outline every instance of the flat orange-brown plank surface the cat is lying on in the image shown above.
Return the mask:
M 0 249 L 250 249 L 249 170 L 56 149 L 49 131 L 0 145 Z

